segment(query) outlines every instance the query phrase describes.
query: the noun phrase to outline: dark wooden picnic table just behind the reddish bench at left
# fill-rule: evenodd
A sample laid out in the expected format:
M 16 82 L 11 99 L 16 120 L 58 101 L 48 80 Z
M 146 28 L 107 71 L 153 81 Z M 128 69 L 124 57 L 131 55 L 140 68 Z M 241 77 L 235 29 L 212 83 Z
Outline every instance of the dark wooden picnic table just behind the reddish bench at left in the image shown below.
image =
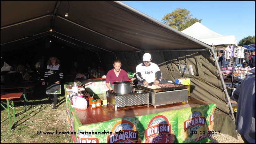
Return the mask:
M 26 111 L 26 109 L 27 109 L 27 101 L 28 101 L 26 89 L 28 89 L 30 87 L 34 87 L 34 84 L 12 85 L 12 86 L 1 85 L 1 90 L 2 89 L 20 89 L 20 88 L 23 88 L 24 109 Z

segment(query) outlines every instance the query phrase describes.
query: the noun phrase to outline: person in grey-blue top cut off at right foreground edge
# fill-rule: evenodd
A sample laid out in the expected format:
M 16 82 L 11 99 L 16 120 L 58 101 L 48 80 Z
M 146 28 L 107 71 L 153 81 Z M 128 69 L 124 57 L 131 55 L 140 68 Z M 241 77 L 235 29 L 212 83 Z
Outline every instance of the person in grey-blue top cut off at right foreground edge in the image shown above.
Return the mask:
M 255 68 L 250 72 L 233 93 L 237 102 L 236 130 L 244 143 L 255 143 Z

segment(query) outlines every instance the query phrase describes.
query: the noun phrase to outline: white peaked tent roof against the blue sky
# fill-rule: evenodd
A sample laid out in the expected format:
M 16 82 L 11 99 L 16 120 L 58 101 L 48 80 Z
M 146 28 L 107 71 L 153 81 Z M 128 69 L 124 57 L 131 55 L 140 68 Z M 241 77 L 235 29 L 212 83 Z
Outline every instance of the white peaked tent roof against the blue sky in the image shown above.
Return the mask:
M 237 46 L 235 35 L 223 36 L 217 34 L 199 22 L 196 22 L 181 32 L 201 42 L 209 45 L 213 44 L 215 47 L 227 47 L 230 44 Z

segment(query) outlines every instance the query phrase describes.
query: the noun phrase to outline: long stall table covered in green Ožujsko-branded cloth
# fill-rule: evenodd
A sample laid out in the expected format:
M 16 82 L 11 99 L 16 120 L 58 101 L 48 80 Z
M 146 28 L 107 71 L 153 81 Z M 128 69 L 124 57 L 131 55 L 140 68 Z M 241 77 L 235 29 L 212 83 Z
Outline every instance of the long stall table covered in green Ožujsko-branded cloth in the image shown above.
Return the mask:
M 89 106 L 87 110 L 76 110 L 67 97 L 66 104 L 70 131 L 76 132 L 71 135 L 74 143 L 205 143 L 212 137 L 208 131 L 212 131 L 216 108 L 213 103 L 196 99 L 157 108 L 152 105 L 147 107 L 147 104 L 121 107 L 117 111 L 111 104 L 106 108 L 92 109 Z M 194 124 L 198 119 L 200 123 Z M 193 121 L 193 125 L 189 125 L 189 120 Z M 198 134 L 193 135 L 190 130 L 197 130 Z M 124 134 L 107 133 L 119 131 Z

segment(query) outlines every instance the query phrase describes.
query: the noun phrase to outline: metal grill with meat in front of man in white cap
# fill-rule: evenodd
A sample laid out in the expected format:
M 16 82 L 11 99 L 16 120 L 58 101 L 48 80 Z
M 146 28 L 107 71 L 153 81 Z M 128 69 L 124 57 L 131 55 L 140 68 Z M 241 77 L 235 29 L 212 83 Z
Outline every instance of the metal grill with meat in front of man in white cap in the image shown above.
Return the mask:
M 149 93 L 149 104 L 153 105 L 154 108 L 159 105 L 188 102 L 189 86 L 175 83 L 166 83 L 164 86 L 162 88 L 151 89 L 143 85 L 137 85 L 139 89 Z

